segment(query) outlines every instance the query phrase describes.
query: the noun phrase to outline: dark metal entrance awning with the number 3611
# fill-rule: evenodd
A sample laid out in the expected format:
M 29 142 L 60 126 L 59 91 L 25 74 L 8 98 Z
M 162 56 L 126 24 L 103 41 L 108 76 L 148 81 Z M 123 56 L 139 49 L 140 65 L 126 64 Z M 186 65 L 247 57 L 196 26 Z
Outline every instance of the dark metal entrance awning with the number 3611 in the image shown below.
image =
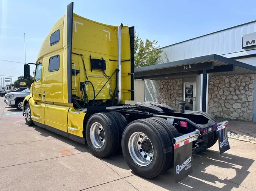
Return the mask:
M 203 70 L 213 75 L 255 74 L 256 67 L 217 54 L 135 68 L 135 79 L 178 79 L 196 77 Z

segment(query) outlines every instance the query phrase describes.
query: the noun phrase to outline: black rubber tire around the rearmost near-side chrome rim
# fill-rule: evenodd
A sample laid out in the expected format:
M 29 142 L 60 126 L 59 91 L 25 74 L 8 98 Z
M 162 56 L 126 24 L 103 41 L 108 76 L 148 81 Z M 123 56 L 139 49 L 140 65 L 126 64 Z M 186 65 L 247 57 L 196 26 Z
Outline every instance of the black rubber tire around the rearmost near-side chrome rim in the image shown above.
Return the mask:
M 129 139 L 135 132 L 142 132 L 152 143 L 154 156 L 147 166 L 139 166 L 129 153 Z M 153 178 L 168 168 L 171 161 L 171 139 L 160 122 L 152 119 L 135 120 L 124 129 L 122 136 L 122 151 L 127 165 L 134 173 L 144 178 Z

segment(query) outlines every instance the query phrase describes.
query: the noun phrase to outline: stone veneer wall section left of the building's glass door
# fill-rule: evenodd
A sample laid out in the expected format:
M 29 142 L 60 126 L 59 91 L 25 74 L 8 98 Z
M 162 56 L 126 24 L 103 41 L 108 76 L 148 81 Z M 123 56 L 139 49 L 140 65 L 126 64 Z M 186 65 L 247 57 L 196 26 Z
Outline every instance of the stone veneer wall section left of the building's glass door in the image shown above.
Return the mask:
M 183 81 L 182 79 L 159 80 L 158 102 L 169 105 L 175 111 L 180 111 L 179 100 L 182 100 Z

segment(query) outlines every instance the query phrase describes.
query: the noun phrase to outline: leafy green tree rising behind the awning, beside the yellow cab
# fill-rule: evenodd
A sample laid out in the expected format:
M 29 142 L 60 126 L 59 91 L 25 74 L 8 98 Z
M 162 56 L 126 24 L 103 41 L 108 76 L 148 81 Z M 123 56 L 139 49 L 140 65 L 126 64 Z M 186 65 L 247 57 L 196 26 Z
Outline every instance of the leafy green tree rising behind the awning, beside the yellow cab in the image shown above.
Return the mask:
M 146 40 L 145 42 L 138 37 L 135 32 L 134 37 L 134 67 L 140 68 L 144 66 L 152 66 L 157 64 L 157 60 L 161 57 L 162 50 L 157 45 L 157 40 Z

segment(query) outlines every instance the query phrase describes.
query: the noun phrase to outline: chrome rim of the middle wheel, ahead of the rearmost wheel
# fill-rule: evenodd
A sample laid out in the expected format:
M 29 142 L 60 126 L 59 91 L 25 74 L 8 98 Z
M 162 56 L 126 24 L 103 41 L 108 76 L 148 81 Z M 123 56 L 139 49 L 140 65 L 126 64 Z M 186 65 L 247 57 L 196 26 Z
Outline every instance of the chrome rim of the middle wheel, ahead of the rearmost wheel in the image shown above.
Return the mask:
M 96 149 L 102 148 L 105 143 L 105 132 L 102 125 L 98 122 L 93 123 L 90 128 L 91 143 Z

